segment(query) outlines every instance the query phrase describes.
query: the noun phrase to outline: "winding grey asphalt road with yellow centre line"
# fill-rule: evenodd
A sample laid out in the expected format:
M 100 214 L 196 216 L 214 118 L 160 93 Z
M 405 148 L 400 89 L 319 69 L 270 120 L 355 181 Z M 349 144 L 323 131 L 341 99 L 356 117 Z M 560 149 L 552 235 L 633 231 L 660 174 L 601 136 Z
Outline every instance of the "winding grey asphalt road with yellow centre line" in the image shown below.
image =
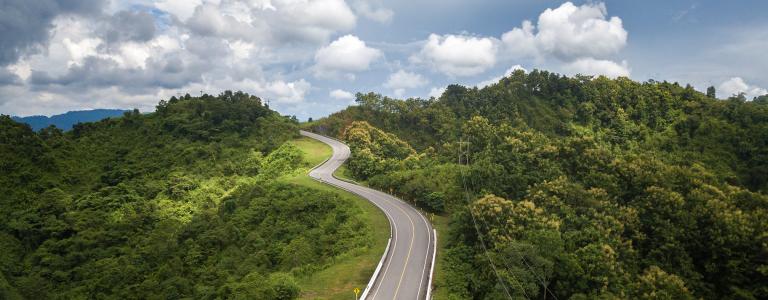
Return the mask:
M 381 269 L 372 278 L 366 299 L 425 299 L 430 288 L 434 236 L 427 219 L 411 205 L 389 194 L 339 180 L 333 172 L 349 158 L 347 145 L 322 135 L 301 131 L 333 148 L 333 156 L 309 173 L 309 176 L 368 199 L 387 215 L 392 240 Z M 374 274 L 376 275 L 376 274 Z

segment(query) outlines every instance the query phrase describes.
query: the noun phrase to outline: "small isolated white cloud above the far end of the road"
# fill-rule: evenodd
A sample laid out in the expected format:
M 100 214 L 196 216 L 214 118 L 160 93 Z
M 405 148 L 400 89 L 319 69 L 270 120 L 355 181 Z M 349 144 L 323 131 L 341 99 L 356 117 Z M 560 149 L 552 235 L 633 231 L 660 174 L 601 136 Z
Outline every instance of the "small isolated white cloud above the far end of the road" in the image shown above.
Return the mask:
M 382 56 L 378 49 L 370 48 L 354 35 L 345 35 L 315 53 L 315 75 L 334 76 L 337 72 L 349 74 L 368 70 L 372 62 Z

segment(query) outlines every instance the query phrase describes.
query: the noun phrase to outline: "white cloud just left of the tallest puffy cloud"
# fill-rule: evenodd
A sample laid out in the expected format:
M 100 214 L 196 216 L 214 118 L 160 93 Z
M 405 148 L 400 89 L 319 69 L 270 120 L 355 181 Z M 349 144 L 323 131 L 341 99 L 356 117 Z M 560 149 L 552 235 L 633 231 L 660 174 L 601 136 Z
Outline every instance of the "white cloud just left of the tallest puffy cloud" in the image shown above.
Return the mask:
M 477 75 L 496 64 L 497 43 L 493 38 L 431 34 L 411 61 L 449 76 Z

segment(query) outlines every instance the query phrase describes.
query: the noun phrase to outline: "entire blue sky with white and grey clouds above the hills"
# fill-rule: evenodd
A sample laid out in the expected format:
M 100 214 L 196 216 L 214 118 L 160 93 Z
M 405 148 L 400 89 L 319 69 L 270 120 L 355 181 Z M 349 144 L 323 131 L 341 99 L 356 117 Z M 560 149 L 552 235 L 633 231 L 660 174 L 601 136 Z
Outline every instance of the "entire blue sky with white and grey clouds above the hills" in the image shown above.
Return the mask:
M 768 93 L 768 1 L 0 0 L 0 113 L 242 90 L 320 117 L 514 69 Z

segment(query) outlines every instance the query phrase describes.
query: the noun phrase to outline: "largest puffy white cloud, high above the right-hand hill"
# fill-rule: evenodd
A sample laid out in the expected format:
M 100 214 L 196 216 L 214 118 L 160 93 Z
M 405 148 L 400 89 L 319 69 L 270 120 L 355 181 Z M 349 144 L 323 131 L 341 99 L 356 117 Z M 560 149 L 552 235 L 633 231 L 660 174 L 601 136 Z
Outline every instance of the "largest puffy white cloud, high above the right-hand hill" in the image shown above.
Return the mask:
M 627 31 L 619 17 L 607 18 L 604 3 L 575 6 L 566 2 L 541 13 L 537 25 L 524 21 L 501 40 L 513 57 L 552 55 L 573 61 L 618 53 L 627 44 Z

